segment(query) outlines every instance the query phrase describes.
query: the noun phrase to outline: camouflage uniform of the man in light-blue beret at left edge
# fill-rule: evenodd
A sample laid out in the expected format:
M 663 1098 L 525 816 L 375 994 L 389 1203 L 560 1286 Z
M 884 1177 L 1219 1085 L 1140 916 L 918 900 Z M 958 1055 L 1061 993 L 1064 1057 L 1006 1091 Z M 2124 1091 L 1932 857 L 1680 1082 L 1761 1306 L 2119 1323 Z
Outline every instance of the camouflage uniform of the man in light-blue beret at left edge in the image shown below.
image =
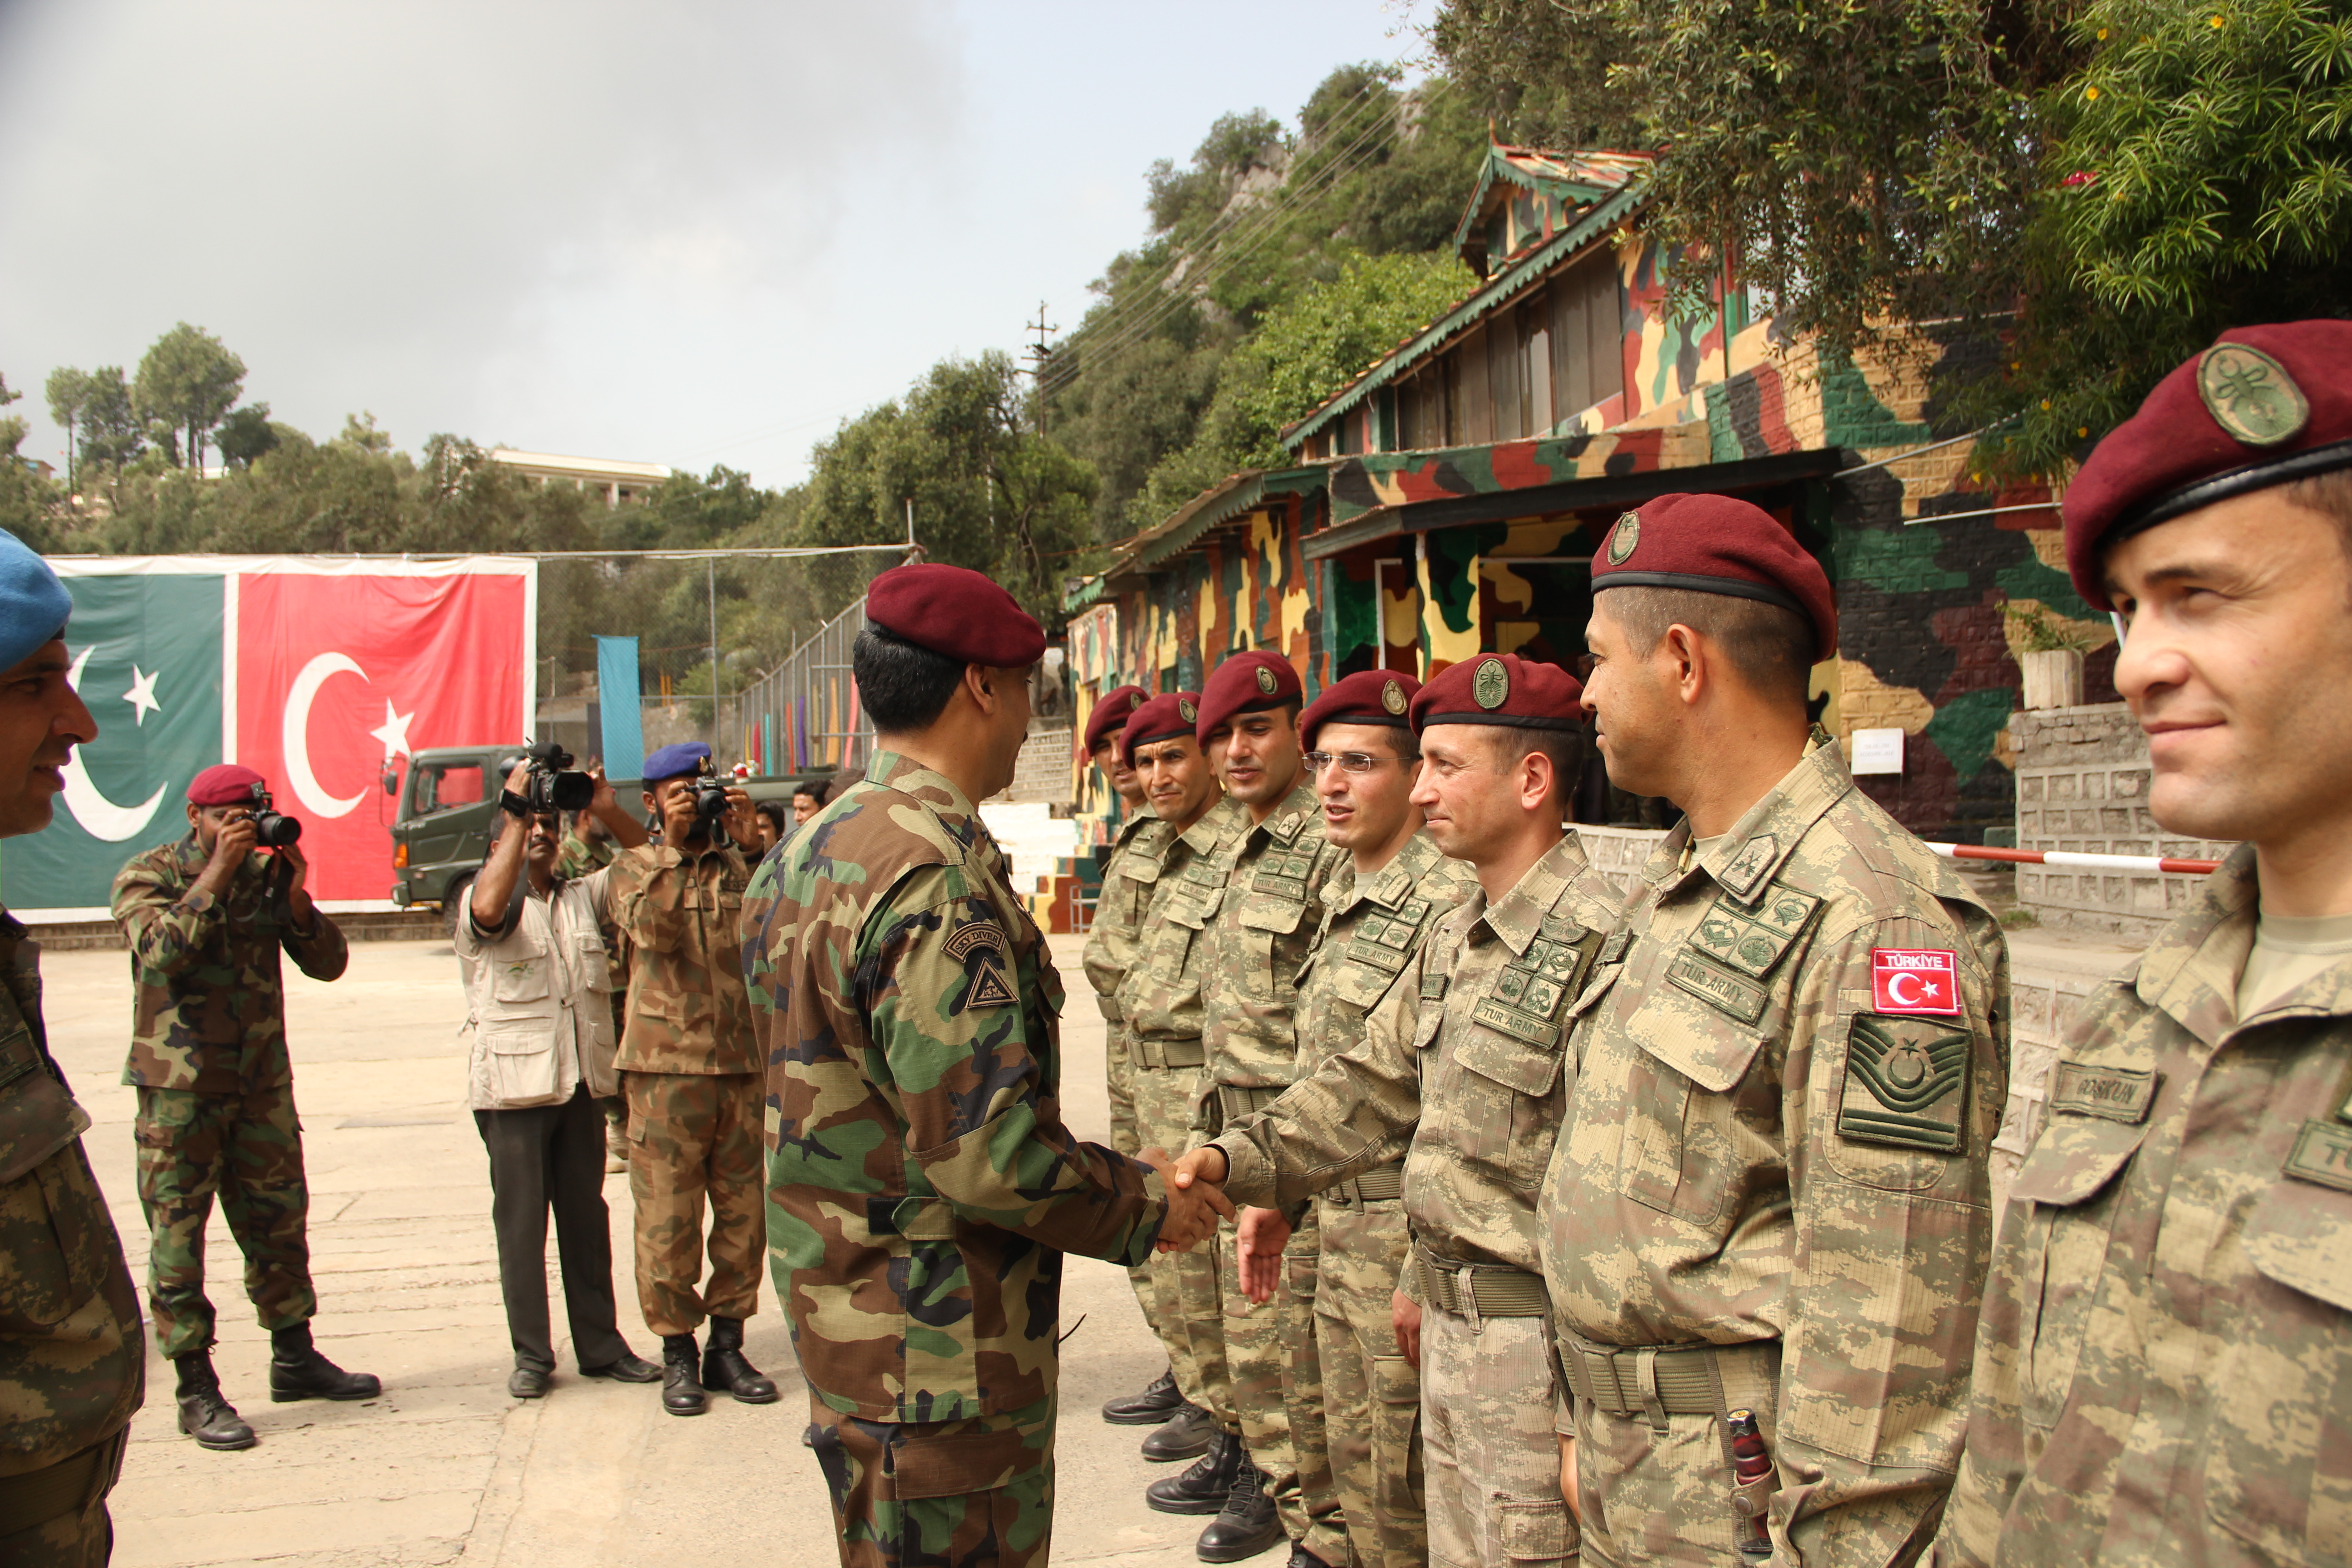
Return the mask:
M 38 947 L 0 910 L 0 1563 L 99 1568 L 146 1399 L 139 1295 L 40 1016 Z

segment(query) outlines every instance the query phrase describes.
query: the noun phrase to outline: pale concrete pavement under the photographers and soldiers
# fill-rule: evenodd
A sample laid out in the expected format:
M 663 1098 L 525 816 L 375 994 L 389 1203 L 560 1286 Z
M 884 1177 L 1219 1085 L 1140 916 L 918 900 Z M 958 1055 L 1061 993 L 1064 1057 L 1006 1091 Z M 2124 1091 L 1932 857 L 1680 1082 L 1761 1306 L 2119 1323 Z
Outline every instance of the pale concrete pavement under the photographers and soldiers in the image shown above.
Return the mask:
M 1075 938 L 1056 938 L 1073 985 L 1065 1114 L 1105 1140 L 1103 1030 L 1077 978 Z M 334 985 L 287 966 L 287 1034 L 310 1168 L 310 1251 L 320 1347 L 383 1378 L 367 1403 L 270 1403 L 268 1335 L 242 1295 L 242 1265 L 214 1213 L 209 1281 L 221 1314 L 221 1382 L 261 1436 L 205 1453 L 179 1436 L 172 1366 L 148 1359 L 148 1401 L 115 1490 L 115 1563 L 532 1563 L 804 1568 L 835 1561 L 816 1462 L 800 1446 L 807 1389 L 774 1293 L 748 1326 L 750 1359 L 783 1401 L 720 1399 L 694 1420 L 661 1413 L 656 1389 L 590 1382 L 562 1338 L 548 1399 L 506 1394 L 513 1366 L 499 1305 L 489 1178 L 466 1110 L 463 1018 L 447 943 L 358 943 Z M 132 1091 L 120 1086 L 129 966 L 120 952 L 42 954 L 52 1046 L 96 1119 L 85 1147 L 113 1204 L 132 1274 L 146 1281 L 146 1225 L 132 1178 Z M 637 1354 L 659 1340 L 637 1314 L 628 1178 L 609 1175 L 621 1331 Z M 548 1260 L 555 1260 L 553 1237 Z M 1084 1321 L 1080 1321 L 1084 1319 Z M 1108 1427 L 1103 1399 L 1164 1366 L 1124 1272 L 1073 1258 L 1063 1288 L 1063 1427 L 1054 1556 L 1063 1563 L 1183 1568 L 1204 1519 L 1143 1507 L 1148 1429 Z M 1075 1326 L 1075 1331 L 1073 1331 Z M 1265 1556 L 1261 1561 L 1279 1561 Z

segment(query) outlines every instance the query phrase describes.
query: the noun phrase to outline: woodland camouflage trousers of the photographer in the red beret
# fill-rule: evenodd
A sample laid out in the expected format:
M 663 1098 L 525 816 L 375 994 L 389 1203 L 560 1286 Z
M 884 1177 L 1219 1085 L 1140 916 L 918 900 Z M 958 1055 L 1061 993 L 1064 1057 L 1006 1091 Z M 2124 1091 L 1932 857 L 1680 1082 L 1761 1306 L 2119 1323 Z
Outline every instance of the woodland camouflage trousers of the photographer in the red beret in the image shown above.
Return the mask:
M 132 1121 L 139 1208 L 148 1220 L 148 1316 L 155 1349 L 186 1356 L 214 1340 L 205 1295 L 205 1227 L 221 1197 L 228 1234 L 245 1253 L 245 1295 L 263 1328 L 318 1312 L 310 1288 L 310 1187 L 301 1166 L 294 1086 L 245 1095 L 141 1088 Z

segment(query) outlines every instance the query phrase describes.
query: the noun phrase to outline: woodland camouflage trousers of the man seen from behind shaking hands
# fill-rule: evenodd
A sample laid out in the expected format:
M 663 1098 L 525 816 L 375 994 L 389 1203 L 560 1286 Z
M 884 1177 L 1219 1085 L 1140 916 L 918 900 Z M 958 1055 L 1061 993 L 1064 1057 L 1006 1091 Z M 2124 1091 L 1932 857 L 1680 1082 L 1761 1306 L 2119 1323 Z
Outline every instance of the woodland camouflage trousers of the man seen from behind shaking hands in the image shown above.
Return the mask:
M 1004 1415 L 873 1422 L 809 1394 L 842 1568 L 1028 1568 L 1054 1540 L 1054 1399 Z

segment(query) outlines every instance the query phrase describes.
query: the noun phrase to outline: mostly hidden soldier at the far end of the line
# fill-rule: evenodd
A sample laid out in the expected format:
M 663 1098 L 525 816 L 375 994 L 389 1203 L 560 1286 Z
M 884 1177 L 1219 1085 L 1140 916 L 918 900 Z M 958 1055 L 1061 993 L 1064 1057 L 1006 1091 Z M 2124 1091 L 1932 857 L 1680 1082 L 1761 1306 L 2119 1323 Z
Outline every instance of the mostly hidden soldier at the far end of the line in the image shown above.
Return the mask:
M 1127 729 L 1127 719 L 1134 717 L 1145 696 L 1143 686 L 1112 686 L 1087 715 L 1087 757 L 1094 759 L 1094 769 L 1120 797 L 1120 809 L 1124 811 L 1120 837 L 1103 863 L 1103 886 L 1094 900 L 1094 919 L 1087 924 L 1082 964 L 1087 983 L 1094 985 L 1094 1001 L 1103 1011 L 1110 1147 L 1129 1159 L 1143 1150 L 1143 1135 L 1136 1128 L 1136 1070 L 1127 1037 L 1120 1032 L 1117 990 L 1120 978 L 1127 976 L 1127 966 L 1134 964 L 1136 943 L 1143 940 L 1143 912 L 1150 905 L 1152 879 L 1160 875 L 1160 839 L 1167 837 L 1164 823 L 1150 813 L 1150 804 L 1143 799 L 1143 780 L 1136 778 L 1136 771 L 1127 766 L 1127 757 L 1120 755 L 1120 731 Z M 1145 875 L 1129 875 L 1129 870 Z M 1127 1279 L 1136 1291 L 1136 1305 L 1143 1307 L 1143 1321 L 1152 1324 L 1152 1333 L 1160 1333 L 1160 1324 L 1152 1321 L 1160 1314 L 1160 1300 L 1152 1291 L 1150 1265 L 1138 1262 L 1127 1269 Z M 1115 1427 L 1157 1427 L 1185 1408 L 1183 1392 L 1176 1387 L 1176 1359 L 1169 1356 L 1169 1371 L 1152 1378 L 1141 1394 L 1124 1394 L 1108 1401 L 1103 1420 Z M 1155 1432 L 1152 1439 L 1157 1436 Z M 1188 1432 L 1183 1436 L 1188 1443 L 1185 1450 L 1164 1458 L 1181 1460 L 1200 1453 L 1209 1446 L 1211 1432 L 1207 1422 L 1200 1422 L 1197 1434 Z M 1145 1443 L 1152 1439 L 1145 1439 Z

